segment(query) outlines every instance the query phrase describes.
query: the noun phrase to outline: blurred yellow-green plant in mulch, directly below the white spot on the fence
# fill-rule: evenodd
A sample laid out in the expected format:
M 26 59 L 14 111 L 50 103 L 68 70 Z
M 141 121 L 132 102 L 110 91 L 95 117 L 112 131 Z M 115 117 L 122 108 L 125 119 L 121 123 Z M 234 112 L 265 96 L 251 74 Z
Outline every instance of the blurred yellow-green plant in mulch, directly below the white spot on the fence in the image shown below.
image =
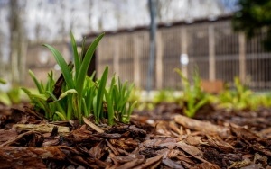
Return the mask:
M 182 71 L 178 68 L 174 69 L 182 79 L 183 84 L 183 109 L 185 115 L 193 117 L 197 111 L 205 104 L 209 103 L 209 97 L 207 93 L 203 93 L 201 90 L 201 78 L 197 71 L 193 75 L 193 85 L 189 80 L 182 75 Z

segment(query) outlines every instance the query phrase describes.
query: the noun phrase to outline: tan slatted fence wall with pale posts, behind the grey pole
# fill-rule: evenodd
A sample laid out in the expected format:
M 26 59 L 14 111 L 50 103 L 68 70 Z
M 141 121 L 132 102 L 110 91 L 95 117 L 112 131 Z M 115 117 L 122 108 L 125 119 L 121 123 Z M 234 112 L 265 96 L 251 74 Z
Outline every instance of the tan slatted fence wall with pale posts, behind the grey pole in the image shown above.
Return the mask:
M 180 76 L 173 69 L 183 69 L 180 64 L 183 53 L 189 57 L 190 79 L 197 67 L 205 80 L 219 79 L 232 84 L 234 77 L 239 76 L 253 89 L 271 88 L 271 53 L 261 46 L 266 36 L 264 30 L 247 40 L 244 34 L 232 31 L 230 18 L 224 18 L 160 26 L 156 35 L 154 89 L 181 87 Z M 145 89 L 149 59 L 147 29 L 106 33 L 96 56 L 98 76 L 109 66 L 111 76 L 116 73 L 122 80 Z

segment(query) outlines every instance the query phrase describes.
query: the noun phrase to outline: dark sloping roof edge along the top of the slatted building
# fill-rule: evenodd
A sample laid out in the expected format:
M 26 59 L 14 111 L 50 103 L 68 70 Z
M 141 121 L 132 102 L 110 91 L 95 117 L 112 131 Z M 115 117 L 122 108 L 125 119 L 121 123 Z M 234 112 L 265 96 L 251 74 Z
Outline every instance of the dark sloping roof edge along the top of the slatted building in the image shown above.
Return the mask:
M 229 20 L 230 18 L 232 18 L 232 13 L 224 14 L 224 15 L 220 15 L 218 17 L 212 17 L 212 18 L 199 18 L 199 19 L 195 19 L 193 21 L 159 23 L 157 25 L 157 28 L 167 28 L 167 27 L 188 25 L 188 24 L 201 23 L 201 22 L 218 22 L 218 21 L 223 21 L 223 20 Z M 97 37 L 102 32 L 105 32 L 107 35 L 113 35 L 113 34 L 123 33 L 123 32 L 133 32 L 133 31 L 143 31 L 143 30 L 149 30 L 149 26 L 148 25 L 136 26 L 134 28 L 118 29 L 116 31 L 97 31 L 97 32 L 91 32 L 88 34 L 83 34 L 83 37 L 86 39 Z

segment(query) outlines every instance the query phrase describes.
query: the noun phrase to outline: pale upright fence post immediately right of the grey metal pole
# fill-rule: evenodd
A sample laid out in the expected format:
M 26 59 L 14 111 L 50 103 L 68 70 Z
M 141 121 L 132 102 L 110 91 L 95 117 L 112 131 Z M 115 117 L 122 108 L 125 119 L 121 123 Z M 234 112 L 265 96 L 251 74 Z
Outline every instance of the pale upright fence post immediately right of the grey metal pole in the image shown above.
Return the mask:
M 163 40 L 161 31 L 156 31 L 156 87 L 162 89 L 163 87 Z

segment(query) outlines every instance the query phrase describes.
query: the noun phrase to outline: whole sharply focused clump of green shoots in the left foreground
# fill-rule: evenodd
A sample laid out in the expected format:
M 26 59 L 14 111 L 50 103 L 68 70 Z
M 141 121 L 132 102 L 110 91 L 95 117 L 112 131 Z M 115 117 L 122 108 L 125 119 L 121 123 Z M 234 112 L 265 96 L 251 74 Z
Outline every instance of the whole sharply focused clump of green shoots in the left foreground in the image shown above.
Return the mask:
M 128 99 L 134 85 L 127 82 L 122 84 L 116 76 L 112 77 L 110 83 L 107 82 L 108 67 L 97 80 L 93 76 L 87 76 L 89 63 L 103 36 L 104 34 L 99 35 L 83 56 L 79 55 L 74 37 L 70 33 L 74 65 L 68 64 L 57 49 L 44 45 L 51 50 L 61 67 L 61 76 L 55 81 L 50 72 L 46 84 L 42 84 L 29 71 L 39 93 L 31 93 L 26 88 L 23 91 L 36 109 L 44 111 L 45 118 L 82 121 L 82 117 L 93 115 L 96 123 L 100 120 L 107 120 L 109 125 L 116 121 L 129 122 L 135 102 L 128 102 Z

